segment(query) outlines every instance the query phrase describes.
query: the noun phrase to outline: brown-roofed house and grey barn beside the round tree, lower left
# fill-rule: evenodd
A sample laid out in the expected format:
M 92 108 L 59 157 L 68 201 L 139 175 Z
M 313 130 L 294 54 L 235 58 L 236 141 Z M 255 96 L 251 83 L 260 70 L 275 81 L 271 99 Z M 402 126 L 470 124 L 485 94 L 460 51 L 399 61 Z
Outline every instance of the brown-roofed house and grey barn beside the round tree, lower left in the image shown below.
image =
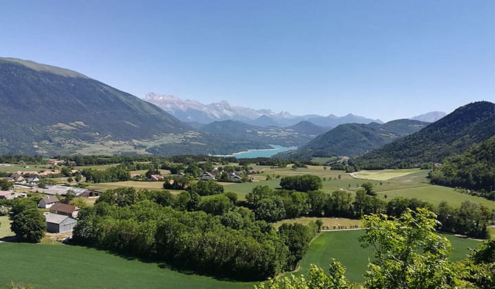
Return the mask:
M 41 198 L 39 208 L 49 208 L 50 213 L 45 213 L 48 233 L 65 233 L 74 230 L 77 224 L 79 208 L 72 204 L 65 204 L 54 195 Z

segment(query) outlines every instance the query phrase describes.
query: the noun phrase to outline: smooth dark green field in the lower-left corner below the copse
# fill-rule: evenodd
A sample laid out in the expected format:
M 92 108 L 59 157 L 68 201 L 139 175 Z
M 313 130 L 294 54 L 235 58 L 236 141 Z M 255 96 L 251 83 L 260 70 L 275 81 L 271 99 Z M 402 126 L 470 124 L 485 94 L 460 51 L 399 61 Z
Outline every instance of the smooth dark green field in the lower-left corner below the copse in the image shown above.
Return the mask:
M 0 243 L 0 287 L 11 281 L 34 288 L 252 288 L 177 272 L 80 246 Z

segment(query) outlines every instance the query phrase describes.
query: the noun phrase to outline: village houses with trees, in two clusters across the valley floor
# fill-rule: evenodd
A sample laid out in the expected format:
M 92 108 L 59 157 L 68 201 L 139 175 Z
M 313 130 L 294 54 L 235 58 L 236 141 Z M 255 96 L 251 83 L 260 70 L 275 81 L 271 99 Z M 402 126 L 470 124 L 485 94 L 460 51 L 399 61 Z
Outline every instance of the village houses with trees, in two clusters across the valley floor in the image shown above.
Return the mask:
M 5 187 L 9 188 L 0 191 L 0 202 L 4 200 L 4 202 L 6 201 L 5 204 L 12 204 L 12 201 L 17 198 L 37 198 L 39 199 L 37 206 L 45 216 L 47 233 L 63 234 L 65 237 L 70 237 L 70 233 L 78 222 L 80 208 L 76 204 L 94 204 L 95 199 L 100 197 L 102 192 L 84 187 L 87 186 L 81 182 L 85 180 L 84 172 L 65 166 L 64 160 L 49 160 L 47 164 L 52 169 L 15 171 L 10 173 L 8 177 L 0 178 L 6 184 Z M 25 166 L 25 168 L 29 169 L 30 167 Z M 250 175 L 260 173 L 256 169 L 244 168 L 241 171 L 230 167 L 226 168 L 224 170 L 222 167 L 214 167 L 210 171 L 203 171 L 203 173 L 177 171 L 175 174 L 160 173 L 160 171 L 151 169 L 146 173 L 133 173 L 131 171 L 128 179 L 139 182 L 164 182 L 164 189 L 174 187 L 173 183 L 178 179 L 188 180 L 184 186 L 181 186 L 181 189 L 186 189 L 190 180 L 235 183 L 259 182 L 259 180 L 250 177 Z M 65 180 L 67 175 L 69 176 Z M 76 182 L 75 186 L 69 185 L 70 182 Z M 80 202 L 71 202 L 74 198 L 80 199 Z M 69 204 L 69 202 L 73 204 Z

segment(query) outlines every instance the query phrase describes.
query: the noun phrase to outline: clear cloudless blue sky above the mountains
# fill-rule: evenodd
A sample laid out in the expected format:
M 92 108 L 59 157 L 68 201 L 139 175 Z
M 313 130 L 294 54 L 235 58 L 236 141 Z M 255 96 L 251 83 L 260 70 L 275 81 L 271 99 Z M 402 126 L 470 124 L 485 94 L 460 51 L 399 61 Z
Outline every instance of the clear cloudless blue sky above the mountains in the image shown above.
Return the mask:
M 391 120 L 495 100 L 494 3 L 3 0 L 0 56 L 139 97 Z

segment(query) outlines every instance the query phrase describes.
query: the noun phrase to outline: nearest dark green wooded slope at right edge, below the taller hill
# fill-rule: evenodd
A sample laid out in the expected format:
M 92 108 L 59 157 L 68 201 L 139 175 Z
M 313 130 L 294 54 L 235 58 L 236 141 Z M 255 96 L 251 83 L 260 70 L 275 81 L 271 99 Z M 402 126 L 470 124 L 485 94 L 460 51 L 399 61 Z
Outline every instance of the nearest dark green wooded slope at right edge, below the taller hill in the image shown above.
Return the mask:
M 433 184 L 460 186 L 465 189 L 495 189 L 495 136 L 456 156 L 445 160 L 430 172 Z M 495 195 L 492 195 L 492 200 Z

